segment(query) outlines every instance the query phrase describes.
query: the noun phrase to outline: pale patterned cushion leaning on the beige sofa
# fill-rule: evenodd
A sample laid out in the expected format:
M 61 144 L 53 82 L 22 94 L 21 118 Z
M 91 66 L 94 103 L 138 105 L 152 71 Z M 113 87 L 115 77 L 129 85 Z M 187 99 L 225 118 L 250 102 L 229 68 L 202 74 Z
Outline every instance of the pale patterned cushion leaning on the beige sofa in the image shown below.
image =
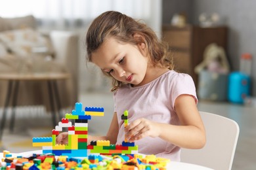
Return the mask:
M 27 57 L 38 52 L 43 52 L 44 55 L 53 54 L 51 41 L 30 28 L 0 32 L 0 42 L 17 56 Z

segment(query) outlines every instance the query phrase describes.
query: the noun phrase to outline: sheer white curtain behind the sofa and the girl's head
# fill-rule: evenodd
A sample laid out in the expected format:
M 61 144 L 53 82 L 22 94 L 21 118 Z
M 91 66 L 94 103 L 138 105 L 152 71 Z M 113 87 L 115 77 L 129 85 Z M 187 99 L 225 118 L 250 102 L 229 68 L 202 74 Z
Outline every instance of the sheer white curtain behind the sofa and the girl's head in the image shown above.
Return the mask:
M 161 36 L 162 0 L 0 0 L 0 17 L 32 14 L 38 29 L 76 31 L 81 34 L 79 49 L 79 90 L 109 90 L 108 78 L 98 70 L 85 66 L 85 30 L 96 16 L 107 10 L 117 10 L 135 19 L 143 20 Z M 94 68 L 94 67 L 92 67 Z M 94 72 L 94 73 L 92 73 Z

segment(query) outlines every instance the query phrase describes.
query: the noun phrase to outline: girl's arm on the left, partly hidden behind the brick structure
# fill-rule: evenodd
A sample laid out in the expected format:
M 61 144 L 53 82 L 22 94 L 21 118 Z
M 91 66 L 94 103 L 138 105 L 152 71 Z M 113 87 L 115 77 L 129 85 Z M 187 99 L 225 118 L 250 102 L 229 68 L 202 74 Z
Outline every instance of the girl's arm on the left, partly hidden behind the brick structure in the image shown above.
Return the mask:
M 118 122 L 117 122 L 117 114 L 114 112 L 112 122 L 110 124 L 110 127 L 108 129 L 108 133 L 106 136 L 91 136 L 88 135 L 88 141 L 87 143 L 91 143 L 91 141 L 97 141 L 97 140 L 105 140 L 110 141 L 111 144 L 116 144 L 117 141 L 117 135 L 118 135 Z M 68 144 L 68 132 L 60 133 L 58 137 L 56 138 L 57 144 Z

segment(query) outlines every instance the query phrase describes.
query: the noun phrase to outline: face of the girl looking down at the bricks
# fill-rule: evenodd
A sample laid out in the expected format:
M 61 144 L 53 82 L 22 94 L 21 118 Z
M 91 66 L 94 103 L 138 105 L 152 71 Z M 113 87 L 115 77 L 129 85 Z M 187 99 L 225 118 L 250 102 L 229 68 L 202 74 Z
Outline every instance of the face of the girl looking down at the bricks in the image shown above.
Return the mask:
M 92 61 L 120 82 L 135 86 L 145 84 L 148 57 L 144 43 L 123 44 L 111 37 L 93 52 Z

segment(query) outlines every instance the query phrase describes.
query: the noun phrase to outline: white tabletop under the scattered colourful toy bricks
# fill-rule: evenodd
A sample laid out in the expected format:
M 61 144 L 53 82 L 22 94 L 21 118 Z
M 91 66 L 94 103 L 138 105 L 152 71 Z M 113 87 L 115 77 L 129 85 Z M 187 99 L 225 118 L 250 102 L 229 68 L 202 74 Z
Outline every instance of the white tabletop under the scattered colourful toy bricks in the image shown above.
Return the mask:
M 42 154 L 42 150 L 32 150 L 29 152 L 22 152 L 22 153 L 11 153 L 12 156 L 31 156 L 31 154 Z M 0 162 L 1 158 L 3 158 L 3 152 L 0 153 Z M 184 162 L 178 162 L 178 161 L 170 161 L 167 164 L 167 169 L 170 170 L 212 170 L 208 167 L 203 167 L 200 165 L 195 165 L 191 163 L 184 163 Z

